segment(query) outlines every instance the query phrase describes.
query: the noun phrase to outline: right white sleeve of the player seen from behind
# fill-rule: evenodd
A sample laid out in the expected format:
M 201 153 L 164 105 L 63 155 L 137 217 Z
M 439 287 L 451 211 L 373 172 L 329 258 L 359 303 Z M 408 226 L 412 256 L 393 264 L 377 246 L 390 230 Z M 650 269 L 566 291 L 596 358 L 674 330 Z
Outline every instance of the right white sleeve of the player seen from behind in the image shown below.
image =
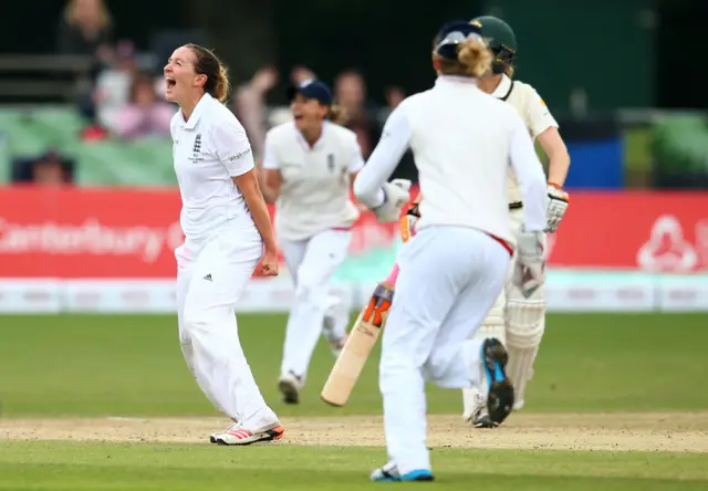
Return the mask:
M 519 181 L 523 200 L 524 230 L 542 231 L 545 228 L 546 187 L 543 166 L 533 149 L 533 140 L 518 114 L 513 115 L 513 128 L 509 142 L 511 167 Z

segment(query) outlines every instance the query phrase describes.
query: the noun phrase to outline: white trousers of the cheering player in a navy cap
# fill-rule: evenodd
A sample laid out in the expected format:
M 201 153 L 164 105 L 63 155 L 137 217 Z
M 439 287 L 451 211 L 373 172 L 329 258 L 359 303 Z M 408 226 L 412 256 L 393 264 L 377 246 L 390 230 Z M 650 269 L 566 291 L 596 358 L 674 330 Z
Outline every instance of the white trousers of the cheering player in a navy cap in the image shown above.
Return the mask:
M 346 259 L 351 241 L 350 230 L 325 230 L 306 240 L 280 239 L 283 259 L 295 286 L 285 327 L 282 375 L 292 373 L 304 383 L 325 313 L 336 315 L 335 328 L 342 336 L 345 334 L 348 309 L 333 304 L 329 293 L 330 280 Z

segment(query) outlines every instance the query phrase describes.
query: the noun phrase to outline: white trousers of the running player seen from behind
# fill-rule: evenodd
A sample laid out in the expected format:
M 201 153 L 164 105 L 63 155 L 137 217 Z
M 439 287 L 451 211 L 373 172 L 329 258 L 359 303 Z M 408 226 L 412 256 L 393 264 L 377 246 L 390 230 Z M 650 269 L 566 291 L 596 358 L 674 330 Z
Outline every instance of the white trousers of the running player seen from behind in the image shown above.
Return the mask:
M 501 292 L 511 254 L 476 229 L 429 227 L 400 250 L 382 339 L 379 386 L 388 457 L 400 473 L 430 469 L 425 382 L 481 380 L 481 341 L 465 343 Z

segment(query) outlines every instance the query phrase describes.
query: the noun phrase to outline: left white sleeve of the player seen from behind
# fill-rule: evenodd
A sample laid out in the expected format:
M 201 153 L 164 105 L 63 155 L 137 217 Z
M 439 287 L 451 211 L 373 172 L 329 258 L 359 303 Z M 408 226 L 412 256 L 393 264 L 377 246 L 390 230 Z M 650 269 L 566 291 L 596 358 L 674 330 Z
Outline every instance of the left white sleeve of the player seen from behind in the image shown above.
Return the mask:
M 410 144 L 412 129 L 405 108 L 406 105 L 402 103 L 391 113 L 376 148 L 354 179 L 354 195 L 369 208 L 384 202 L 382 186 L 396 170 Z

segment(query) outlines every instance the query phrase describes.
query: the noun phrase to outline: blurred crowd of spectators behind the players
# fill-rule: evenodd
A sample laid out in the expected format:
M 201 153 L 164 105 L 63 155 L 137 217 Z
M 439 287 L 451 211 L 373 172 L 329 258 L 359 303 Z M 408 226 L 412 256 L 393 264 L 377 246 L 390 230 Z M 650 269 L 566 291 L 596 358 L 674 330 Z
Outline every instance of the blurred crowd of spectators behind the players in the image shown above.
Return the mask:
M 103 0 L 67 1 L 59 23 L 59 53 L 93 56 L 95 66 L 92 83 L 79 100 L 79 111 L 90 122 L 83 137 L 131 140 L 169 136 L 175 107 L 164 100 L 164 60 L 145 66 L 134 43 L 116 40 L 114 32 L 114 21 Z M 290 70 L 288 81 L 281 76 L 275 66 L 263 66 L 250 80 L 236 83 L 229 102 L 246 127 L 256 155 L 262 154 L 266 132 L 290 117 L 288 107 L 273 105 L 272 101 L 283 100 L 283 94 L 274 93 L 274 88 L 281 82 L 299 83 L 316 74 L 305 66 L 295 66 Z M 399 87 L 389 87 L 382 94 L 382 103 L 374 102 L 363 74 L 356 70 L 342 72 L 331 83 L 336 103 L 348 115 L 347 126 L 357 134 L 367 156 L 389 111 L 405 95 Z

